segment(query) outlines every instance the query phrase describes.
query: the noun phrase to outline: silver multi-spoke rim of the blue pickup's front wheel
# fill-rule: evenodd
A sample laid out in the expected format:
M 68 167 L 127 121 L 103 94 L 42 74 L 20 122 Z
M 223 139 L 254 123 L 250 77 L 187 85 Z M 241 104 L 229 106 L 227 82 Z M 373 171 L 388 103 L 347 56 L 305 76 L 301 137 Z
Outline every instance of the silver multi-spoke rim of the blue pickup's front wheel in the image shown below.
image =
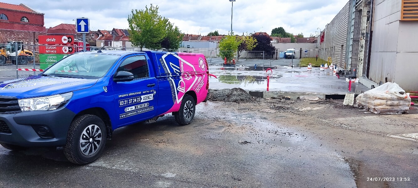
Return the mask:
M 102 130 L 99 126 L 91 124 L 87 126 L 80 136 L 80 151 L 86 155 L 93 155 L 102 143 Z

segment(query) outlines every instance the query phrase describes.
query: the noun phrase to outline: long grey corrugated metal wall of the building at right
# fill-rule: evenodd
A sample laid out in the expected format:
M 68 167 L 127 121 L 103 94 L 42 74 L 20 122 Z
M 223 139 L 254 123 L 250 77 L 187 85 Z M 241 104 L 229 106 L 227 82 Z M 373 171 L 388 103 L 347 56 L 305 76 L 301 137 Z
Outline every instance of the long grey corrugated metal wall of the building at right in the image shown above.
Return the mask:
M 335 16 L 335 18 L 326 25 L 325 39 L 321 43 L 320 57 L 327 60 L 329 57 L 332 63 L 345 68 L 345 53 L 348 33 L 349 2 Z M 350 69 L 350 68 L 348 68 Z

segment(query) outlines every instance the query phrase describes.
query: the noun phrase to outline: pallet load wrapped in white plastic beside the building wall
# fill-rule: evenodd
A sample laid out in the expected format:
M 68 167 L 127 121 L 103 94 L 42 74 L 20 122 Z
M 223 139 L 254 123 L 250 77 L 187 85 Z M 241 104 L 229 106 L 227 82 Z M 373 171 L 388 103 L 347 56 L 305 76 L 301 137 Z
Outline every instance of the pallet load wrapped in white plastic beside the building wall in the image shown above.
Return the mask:
M 409 93 L 396 83 L 387 82 L 356 97 L 357 107 L 375 114 L 408 113 L 411 106 Z

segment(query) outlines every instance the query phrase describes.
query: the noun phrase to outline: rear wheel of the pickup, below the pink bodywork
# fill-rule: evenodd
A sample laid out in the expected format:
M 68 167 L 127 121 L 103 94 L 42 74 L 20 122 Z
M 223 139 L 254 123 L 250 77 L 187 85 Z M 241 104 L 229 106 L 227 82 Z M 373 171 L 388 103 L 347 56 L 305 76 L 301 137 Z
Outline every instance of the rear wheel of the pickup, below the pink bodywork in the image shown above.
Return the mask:
M 180 125 L 190 124 L 196 112 L 196 102 L 190 95 L 184 95 L 178 112 L 173 112 L 176 122 Z

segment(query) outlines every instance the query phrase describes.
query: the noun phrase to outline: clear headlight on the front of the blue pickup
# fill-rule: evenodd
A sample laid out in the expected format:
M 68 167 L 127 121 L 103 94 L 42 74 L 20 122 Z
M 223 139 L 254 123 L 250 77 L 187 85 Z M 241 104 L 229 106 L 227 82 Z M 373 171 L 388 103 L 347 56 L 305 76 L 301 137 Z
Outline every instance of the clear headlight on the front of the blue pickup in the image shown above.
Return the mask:
M 19 106 L 22 111 L 31 110 L 54 110 L 63 107 L 73 96 L 73 92 L 58 94 L 49 97 L 32 99 L 19 99 Z

